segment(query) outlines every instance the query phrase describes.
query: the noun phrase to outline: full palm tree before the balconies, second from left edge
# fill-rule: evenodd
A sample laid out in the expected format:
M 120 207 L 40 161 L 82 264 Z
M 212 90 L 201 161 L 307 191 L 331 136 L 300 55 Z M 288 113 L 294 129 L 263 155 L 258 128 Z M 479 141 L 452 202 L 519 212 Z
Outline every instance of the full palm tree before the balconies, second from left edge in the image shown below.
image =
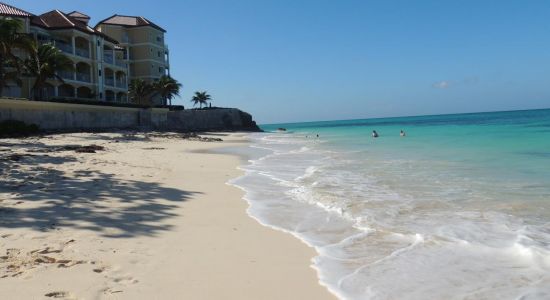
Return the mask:
M 43 97 L 44 87 L 48 80 L 64 83 L 59 72 L 73 71 L 73 61 L 51 44 L 34 43 L 29 58 L 25 60 L 25 70 L 29 77 L 34 77 L 32 86 L 33 98 Z

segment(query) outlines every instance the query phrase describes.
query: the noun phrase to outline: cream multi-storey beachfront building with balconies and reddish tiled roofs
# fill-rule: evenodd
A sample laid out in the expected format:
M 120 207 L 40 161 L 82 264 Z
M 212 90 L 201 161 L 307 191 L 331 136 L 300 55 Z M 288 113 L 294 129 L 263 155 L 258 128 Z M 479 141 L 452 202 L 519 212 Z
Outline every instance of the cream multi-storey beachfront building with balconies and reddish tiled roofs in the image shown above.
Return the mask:
M 169 75 L 166 30 L 144 17 L 114 15 L 91 27 L 90 17 L 78 11 L 34 15 L 2 2 L 0 17 L 20 19 L 24 33 L 55 45 L 73 61 L 74 71 L 58 74 L 63 83 L 48 82 L 46 98 L 128 102 L 132 79 L 153 82 Z M 30 98 L 32 83 L 32 78 L 21 86 L 12 83 L 2 96 Z

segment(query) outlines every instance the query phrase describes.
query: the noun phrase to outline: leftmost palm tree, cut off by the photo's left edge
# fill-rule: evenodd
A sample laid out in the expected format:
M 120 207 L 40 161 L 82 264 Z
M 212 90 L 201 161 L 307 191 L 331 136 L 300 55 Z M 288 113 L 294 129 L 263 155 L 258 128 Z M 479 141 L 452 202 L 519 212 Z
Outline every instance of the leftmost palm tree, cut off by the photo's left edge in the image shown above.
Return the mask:
M 32 39 L 20 33 L 23 22 L 18 19 L 0 19 L 0 95 L 9 82 L 21 85 L 21 65 L 23 60 L 14 50 L 29 51 Z

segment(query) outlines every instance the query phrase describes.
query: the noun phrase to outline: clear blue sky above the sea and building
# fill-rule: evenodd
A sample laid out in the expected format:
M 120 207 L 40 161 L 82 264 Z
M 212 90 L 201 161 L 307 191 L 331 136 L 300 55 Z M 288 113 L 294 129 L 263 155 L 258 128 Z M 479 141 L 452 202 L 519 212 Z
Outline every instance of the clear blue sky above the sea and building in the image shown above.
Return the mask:
M 259 123 L 550 107 L 550 1 L 7 1 L 168 30 L 177 104 Z M 155 5 L 151 5 L 155 3 Z

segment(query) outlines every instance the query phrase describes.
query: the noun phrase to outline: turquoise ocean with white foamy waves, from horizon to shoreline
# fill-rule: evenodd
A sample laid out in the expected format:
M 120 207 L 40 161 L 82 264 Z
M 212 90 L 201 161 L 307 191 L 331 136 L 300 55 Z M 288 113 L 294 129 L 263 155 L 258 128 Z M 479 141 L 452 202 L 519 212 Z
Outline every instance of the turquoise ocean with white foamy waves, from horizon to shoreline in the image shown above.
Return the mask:
M 231 184 L 341 299 L 550 299 L 550 110 L 261 127 Z

